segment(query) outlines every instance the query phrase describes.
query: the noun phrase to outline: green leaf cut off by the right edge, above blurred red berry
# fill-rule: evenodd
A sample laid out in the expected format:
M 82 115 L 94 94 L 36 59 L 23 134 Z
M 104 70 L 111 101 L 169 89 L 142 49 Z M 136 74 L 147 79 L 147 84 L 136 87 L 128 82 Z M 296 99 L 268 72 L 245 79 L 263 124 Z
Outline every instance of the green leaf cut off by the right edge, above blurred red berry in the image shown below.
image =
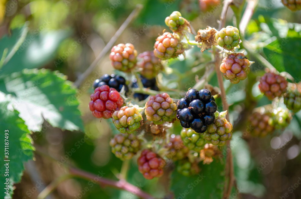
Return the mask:
M 279 71 L 288 72 L 297 82 L 301 78 L 301 38 L 277 39 L 263 48 L 267 60 Z

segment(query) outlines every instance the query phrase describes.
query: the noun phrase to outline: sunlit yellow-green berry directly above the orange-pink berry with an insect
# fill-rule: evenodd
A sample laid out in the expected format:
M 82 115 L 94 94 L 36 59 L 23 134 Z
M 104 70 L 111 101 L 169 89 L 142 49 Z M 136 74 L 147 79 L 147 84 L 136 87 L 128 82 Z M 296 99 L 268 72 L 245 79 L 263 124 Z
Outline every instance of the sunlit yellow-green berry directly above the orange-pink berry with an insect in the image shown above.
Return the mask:
M 240 42 L 239 30 L 236 27 L 227 26 L 216 32 L 215 39 L 220 47 L 228 51 L 233 51 L 233 47 L 238 46 Z

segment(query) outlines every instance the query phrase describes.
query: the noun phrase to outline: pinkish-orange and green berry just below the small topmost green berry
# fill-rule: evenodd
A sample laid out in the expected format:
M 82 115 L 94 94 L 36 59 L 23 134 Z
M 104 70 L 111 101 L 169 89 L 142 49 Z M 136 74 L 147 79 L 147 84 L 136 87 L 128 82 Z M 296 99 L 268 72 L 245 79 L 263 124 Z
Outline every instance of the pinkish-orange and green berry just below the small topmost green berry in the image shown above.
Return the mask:
M 176 58 L 184 52 L 183 44 L 177 34 L 164 32 L 160 35 L 154 45 L 154 55 L 161 60 Z

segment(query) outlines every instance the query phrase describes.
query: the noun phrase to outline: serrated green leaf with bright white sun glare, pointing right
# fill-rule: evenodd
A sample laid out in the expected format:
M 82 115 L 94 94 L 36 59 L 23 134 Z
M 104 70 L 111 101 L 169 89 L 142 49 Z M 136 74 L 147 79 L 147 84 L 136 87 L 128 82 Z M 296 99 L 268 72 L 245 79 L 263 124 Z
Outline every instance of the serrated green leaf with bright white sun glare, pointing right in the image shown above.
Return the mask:
M 44 119 L 63 130 L 83 129 L 76 88 L 63 74 L 26 69 L 12 73 L 4 82 L 7 92 L 16 96 L 12 96 L 11 104 L 20 112 L 29 130 L 40 131 Z

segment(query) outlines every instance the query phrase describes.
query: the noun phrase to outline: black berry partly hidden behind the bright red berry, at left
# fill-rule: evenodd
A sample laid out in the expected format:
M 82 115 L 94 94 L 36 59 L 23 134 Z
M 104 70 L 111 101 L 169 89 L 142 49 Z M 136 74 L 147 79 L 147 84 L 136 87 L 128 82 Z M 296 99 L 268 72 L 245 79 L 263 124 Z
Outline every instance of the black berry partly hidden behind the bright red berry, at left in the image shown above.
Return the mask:
M 93 89 L 102 85 L 108 85 L 110 88 L 115 88 L 118 92 L 120 92 L 120 90 L 124 86 L 125 91 L 129 91 L 129 87 L 126 85 L 126 79 L 120 75 L 102 75 L 101 78 L 94 81 Z

